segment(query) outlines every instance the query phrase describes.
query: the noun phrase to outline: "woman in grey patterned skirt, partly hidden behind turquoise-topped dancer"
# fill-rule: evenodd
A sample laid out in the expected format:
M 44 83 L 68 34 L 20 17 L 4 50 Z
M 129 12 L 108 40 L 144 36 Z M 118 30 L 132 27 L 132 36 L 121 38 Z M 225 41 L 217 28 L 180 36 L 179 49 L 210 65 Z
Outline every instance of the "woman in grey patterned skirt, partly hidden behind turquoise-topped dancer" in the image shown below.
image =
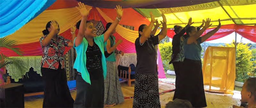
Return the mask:
M 110 27 L 112 23 L 108 23 L 106 25 L 106 31 Z M 124 52 L 118 51 L 116 47 L 118 44 L 122 43 L 122 40 L 119 39 L 116 41 L 116 38 L 113 34 L 116 32 L 114 30 L 110 37 L 108 38 L 107 42 L 105 42 L 105 57 L 107 62 L 107 75 L 106 79 L 104 80 L 105 86 L 105 96 L 104 96 L 104 106 L 114 106 L 116 104 L 121 104 L 124 102 L 124 95 L 121 90 L 119 78 L 118 78 L 118 71 L 116 68 L 116 56 L 115 53 L 124 55 Z M 108 53 L 106 55 L 106 52 Z

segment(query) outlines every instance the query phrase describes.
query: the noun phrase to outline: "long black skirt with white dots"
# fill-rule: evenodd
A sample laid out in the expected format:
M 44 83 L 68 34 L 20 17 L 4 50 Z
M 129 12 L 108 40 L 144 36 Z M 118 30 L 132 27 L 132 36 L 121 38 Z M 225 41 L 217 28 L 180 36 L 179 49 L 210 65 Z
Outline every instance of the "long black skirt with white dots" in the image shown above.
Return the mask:
M 133 108 L 161 108 L 157 74 L 135 74 Z

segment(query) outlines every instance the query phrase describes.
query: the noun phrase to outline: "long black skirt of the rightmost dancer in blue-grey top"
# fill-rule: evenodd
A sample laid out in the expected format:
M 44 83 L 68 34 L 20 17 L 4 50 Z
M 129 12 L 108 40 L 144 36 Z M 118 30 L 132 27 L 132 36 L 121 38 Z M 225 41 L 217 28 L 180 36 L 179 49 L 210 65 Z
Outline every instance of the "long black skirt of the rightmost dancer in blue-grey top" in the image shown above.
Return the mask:
M 190 101 L 196 108 L 206 107 L 201 60 L 185 58 L 184 66 L 186 68 L 180 76 L 180 91 L 182 92 L 180 99 Z

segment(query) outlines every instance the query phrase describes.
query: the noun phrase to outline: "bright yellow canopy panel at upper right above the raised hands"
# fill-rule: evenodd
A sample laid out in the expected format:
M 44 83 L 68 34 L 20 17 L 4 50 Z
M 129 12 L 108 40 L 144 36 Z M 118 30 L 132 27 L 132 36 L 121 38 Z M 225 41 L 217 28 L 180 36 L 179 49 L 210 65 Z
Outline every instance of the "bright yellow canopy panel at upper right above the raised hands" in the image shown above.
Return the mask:
M 202 24 L 203 19 L 211 18 L 212 27 L 216 27 L 219 24 L 218 19 L 220 19 L 221 25 L 254 25 L 256 23 L 255 7 L 255 0 L 220 0 L 182 7 L 137 10 L 142 15 L 146 15 L 149 21 L 151 20 L 150 11 L 155 14 L 158 21 L 163 20 L 160 13 L 164 13 L 167 20 L 167 28 L 173 28 L 174 25 L 185 27 L 189 17 L 192 17 L 192 22 L 195 22 L 192 26 L 198 27 Z

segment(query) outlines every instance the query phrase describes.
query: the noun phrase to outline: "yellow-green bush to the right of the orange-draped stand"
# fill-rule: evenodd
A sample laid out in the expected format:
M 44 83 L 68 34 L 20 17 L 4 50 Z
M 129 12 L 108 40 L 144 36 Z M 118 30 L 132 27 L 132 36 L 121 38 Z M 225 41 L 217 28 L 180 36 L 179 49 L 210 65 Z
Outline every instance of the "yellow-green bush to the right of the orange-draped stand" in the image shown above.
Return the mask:
M 235 42 L 225 44 L 225 47 L 235 47 Z M 252 51 L 249 48 L 248 44 L 236 45 L 236 81 L 245 82 L 253 71 Z

